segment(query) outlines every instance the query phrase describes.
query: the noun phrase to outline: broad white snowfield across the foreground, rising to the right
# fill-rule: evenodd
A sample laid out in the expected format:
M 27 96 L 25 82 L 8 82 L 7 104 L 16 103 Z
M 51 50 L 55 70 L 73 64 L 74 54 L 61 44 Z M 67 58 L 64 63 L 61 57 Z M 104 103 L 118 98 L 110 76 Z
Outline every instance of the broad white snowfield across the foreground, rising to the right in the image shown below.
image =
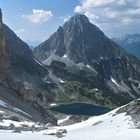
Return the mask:
M 116 114 L 115 109 L 101 116 L 91 117 L 86 121 L 69 125 L 55 126 L 39 132 L 11 133 L 1 130 L 1 140 L 58 140 L 56 133 L 66 129 L 61 140 L 140 140 L 140 129 L 136 129 L 132 118 L 126 113 Z

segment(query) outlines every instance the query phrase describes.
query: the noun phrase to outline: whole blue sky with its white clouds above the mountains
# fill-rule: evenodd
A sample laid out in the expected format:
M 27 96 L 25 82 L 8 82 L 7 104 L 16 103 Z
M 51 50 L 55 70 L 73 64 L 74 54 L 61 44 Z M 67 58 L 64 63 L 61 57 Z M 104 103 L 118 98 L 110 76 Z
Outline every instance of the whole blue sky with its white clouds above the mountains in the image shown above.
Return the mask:
M 140 0 L 0 0 L 3 20 L 37 45 L 75 13 L 85 14 L 111 37 L 140 33 Z

